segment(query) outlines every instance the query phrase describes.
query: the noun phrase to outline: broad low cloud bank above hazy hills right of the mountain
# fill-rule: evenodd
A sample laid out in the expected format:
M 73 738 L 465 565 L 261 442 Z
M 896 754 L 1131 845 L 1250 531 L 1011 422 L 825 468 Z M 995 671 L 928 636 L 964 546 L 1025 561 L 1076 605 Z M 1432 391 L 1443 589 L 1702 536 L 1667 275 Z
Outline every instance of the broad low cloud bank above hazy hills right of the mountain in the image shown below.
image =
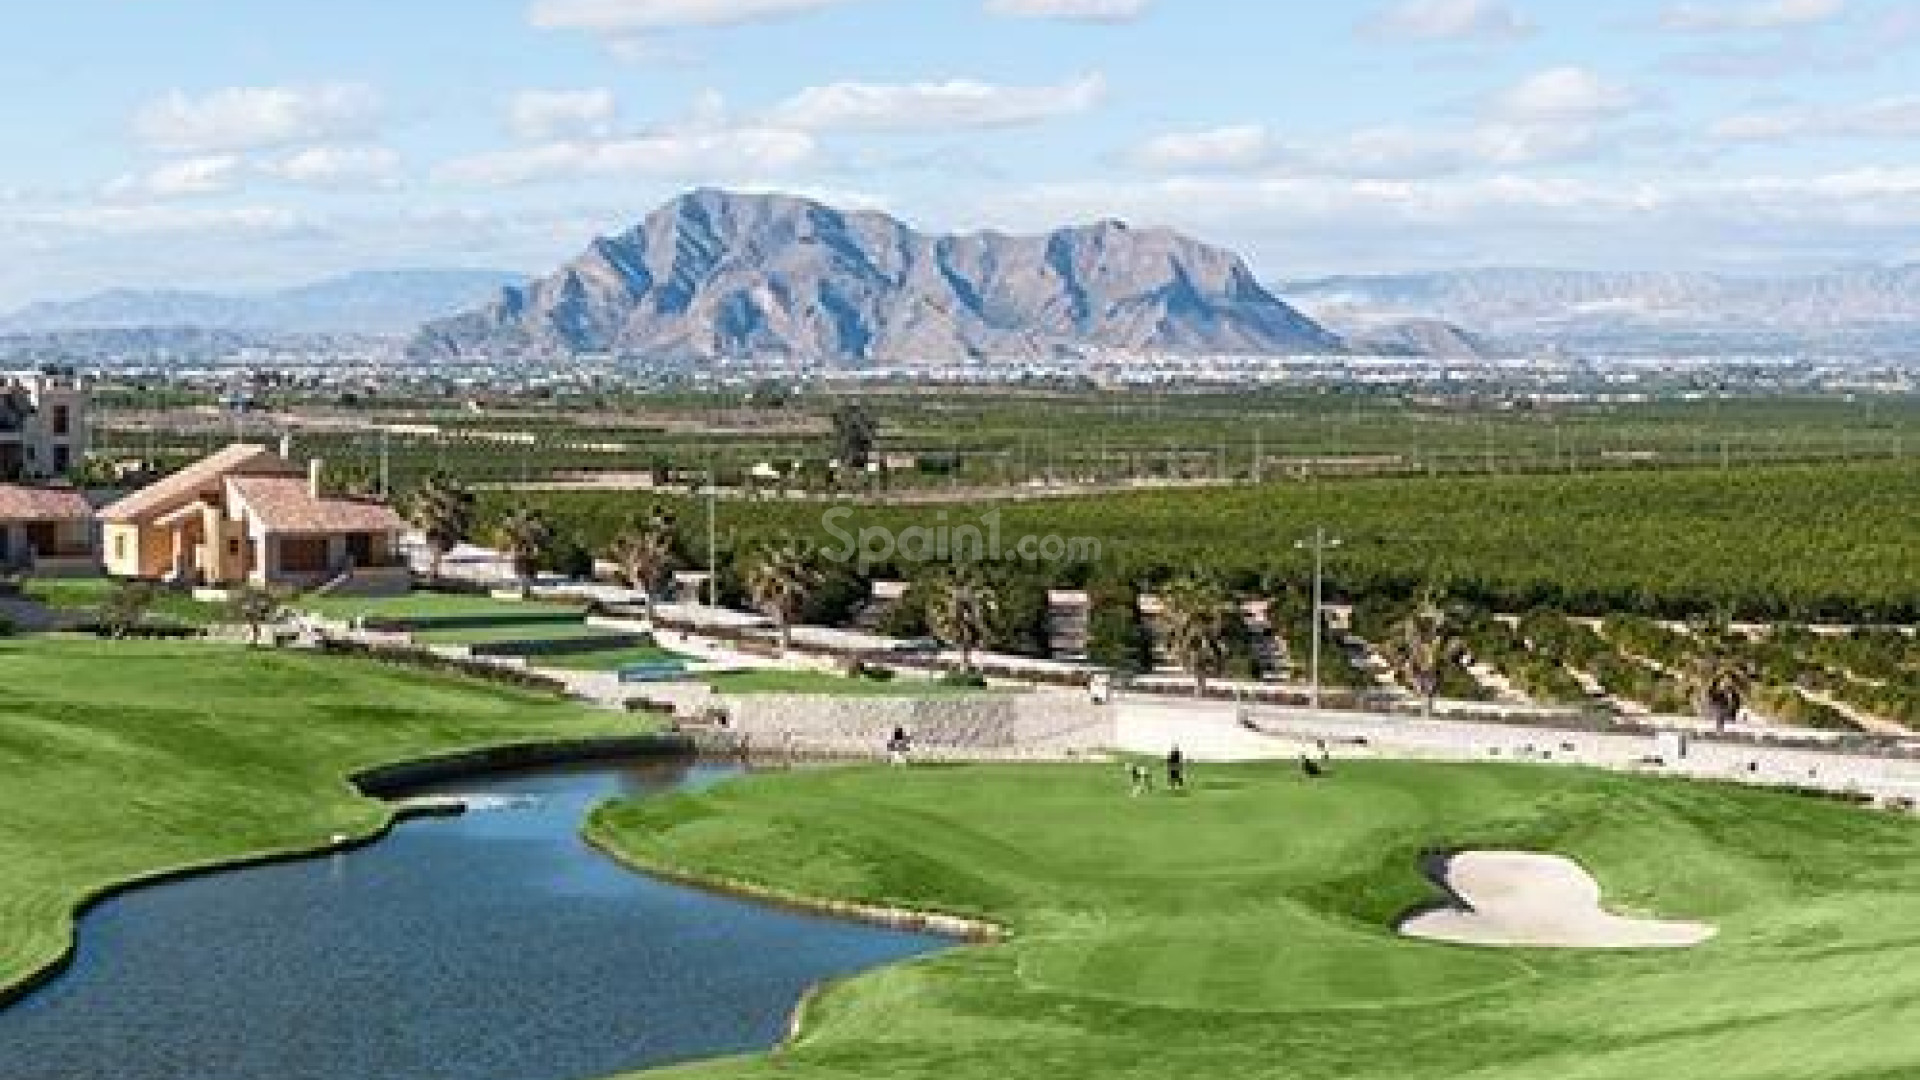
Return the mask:
M 983 192 L 960 211 L 1016 231 L 1123 217 L 1217 238 L 1269 275 L 1461 265 L 1780 269 L 1920 250 L 1920 169 L 1622 181 L 1179 177 Z

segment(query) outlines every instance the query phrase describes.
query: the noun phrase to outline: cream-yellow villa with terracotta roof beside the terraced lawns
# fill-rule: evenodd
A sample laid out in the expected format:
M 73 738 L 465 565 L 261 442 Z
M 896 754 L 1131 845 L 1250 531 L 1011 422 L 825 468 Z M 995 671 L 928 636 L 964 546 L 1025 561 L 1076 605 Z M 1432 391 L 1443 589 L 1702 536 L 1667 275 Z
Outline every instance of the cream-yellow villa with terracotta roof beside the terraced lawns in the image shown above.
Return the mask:
M 392 507 L 324 492 L 319 461 L 228 446 L 100 511 L 113 577 L 388 594 L 411 584 Z

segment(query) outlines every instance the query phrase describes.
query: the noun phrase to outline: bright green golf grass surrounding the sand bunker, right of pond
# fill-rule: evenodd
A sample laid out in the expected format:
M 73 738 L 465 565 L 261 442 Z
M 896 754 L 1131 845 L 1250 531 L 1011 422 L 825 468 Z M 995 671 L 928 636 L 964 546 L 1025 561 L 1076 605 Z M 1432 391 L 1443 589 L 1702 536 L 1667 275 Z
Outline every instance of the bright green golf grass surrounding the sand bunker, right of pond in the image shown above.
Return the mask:
M 1764 792 L 1523 767 L 799 773 L 626 803 L 636 861 L 991 917 L 828 994 L 770 1059 L 676 1076 L 1893 1080 L 1920 1074 L 1920 828 Z M 1425 846 L 1565 851 L 1686 953 L 1404 942 Z

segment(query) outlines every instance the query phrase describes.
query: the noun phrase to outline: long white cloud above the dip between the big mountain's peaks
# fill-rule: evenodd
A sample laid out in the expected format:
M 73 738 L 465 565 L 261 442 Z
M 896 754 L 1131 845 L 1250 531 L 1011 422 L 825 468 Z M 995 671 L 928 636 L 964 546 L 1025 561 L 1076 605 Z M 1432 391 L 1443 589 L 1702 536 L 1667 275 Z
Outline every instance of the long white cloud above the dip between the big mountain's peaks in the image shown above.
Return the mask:
M 835 83 L 810 86 L 774 106 L 768 123 L 799 131 L 952 131 L 1021 127 L 1083 113 L 1106 98 L 1106 79 L 1089 75 L 1058 86 L 948 83 Z

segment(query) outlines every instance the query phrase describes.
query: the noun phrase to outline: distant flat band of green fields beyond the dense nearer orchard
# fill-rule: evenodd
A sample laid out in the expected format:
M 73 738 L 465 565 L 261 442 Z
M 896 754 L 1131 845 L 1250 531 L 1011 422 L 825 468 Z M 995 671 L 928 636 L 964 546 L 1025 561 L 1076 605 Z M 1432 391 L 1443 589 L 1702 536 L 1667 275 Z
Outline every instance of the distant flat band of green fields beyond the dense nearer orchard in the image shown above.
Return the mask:
M 179 465 L 232 438 L 275 440 L 342 475 L 405 488 L 432 471 L 520 484 L 582 475 L 712 475 L 743 486 L 833 482 L 831 413 L 874 419 L 883 475 L 862 488 L 1016 488 L 1121 480 L 1275 480 L 1352 475 L 1580 475 L 1920 455 L 1920 404 L 1899 398 L 1536 402 L 1398 390 L 1150 394 L 1096 390 L 576 396 L 545 400 L 265 396 L 248 411 L 179 392 L 108 390 L 100 450 Z M 298 419 L 300 423 L 290 423 Z M 764 469 L 762 469 L 764 471 Z

